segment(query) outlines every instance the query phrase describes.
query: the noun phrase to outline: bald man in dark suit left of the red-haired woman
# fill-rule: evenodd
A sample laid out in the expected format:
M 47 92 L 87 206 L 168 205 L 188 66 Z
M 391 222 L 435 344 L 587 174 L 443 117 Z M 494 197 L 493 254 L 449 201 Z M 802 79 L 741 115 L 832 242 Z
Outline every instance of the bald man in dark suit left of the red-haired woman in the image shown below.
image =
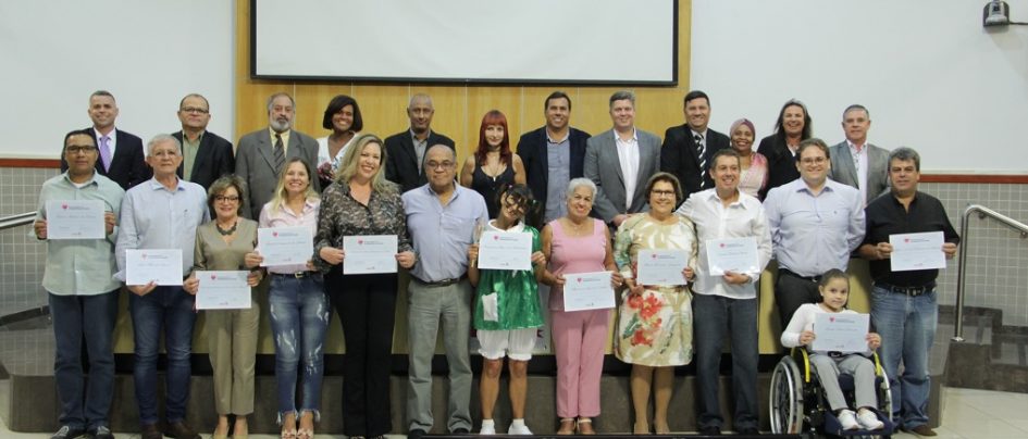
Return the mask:
M 429 181 L 424 174 L 424 152 L 429 148 L 445 145 L 457 150 L 449 137 L 432 131 L 434 114 L 429 95 L 412 96 L 407 104 L 410 129 L 385 139 L 385 178 L 400 185 L 404 192 Z

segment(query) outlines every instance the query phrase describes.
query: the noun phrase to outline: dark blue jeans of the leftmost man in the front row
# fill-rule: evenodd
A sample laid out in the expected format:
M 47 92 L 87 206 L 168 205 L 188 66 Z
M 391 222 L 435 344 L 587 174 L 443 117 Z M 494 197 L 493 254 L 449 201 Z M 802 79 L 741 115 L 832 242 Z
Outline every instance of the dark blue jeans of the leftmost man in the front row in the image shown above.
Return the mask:
M 114 393 L 114 318 L 117 290 L 96 296 L 48 294 L 53 321 L 53 378 L 61 398 L 61 425 L 96 429 L 108 426 Z M 89 356 L 88 386 L 83 380 L 82 342 Z

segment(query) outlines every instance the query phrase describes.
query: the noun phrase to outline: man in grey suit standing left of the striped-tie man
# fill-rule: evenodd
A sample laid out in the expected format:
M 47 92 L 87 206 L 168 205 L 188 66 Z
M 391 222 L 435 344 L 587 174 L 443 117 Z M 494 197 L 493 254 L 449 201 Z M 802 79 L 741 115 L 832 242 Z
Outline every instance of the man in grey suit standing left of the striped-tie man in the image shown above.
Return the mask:
M 649 209 L 646 181 L 660 167 L 660 138 L 635 129 L 635 93 L 610 96 L 614 128 L 590 137 L 585 145 L 585 178 L 596 184 L 593 214 L 611 227 L 629 214 Z

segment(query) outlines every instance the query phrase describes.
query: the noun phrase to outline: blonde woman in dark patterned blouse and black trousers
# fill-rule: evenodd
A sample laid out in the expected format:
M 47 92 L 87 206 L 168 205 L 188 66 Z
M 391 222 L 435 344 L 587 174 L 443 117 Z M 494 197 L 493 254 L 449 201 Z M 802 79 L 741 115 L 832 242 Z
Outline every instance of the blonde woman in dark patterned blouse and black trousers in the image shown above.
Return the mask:
M 344 274 L 343 238 L 395 235 L 396 262 L 414 264 L 399 187 L 385 180 L 385 148 L 360 135 L 343 155 L 336 180 L 322 196 L 314 262 L 327 273 L 329 298 L 346 338 L 343 365 L 343 432 L 375 437 L 389 432 L 389 371 L 396 308 L 396 272 Z

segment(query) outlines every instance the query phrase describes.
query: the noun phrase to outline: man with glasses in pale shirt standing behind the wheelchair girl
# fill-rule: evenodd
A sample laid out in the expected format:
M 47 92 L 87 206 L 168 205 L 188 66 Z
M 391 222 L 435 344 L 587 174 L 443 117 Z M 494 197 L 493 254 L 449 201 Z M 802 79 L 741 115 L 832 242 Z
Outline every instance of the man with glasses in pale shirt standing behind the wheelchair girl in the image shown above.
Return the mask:
M 775 302 L 782 326 L 804 303 L 817 303 L 817 283 L 830 268 L 846 269 L 850 253 L 864 239 L 864 199 L 851 186 L 828 178 L 828 146 L 818 138 L 800 142 L 800 178 L 771 189 L 764 200 L 778 279 Z

